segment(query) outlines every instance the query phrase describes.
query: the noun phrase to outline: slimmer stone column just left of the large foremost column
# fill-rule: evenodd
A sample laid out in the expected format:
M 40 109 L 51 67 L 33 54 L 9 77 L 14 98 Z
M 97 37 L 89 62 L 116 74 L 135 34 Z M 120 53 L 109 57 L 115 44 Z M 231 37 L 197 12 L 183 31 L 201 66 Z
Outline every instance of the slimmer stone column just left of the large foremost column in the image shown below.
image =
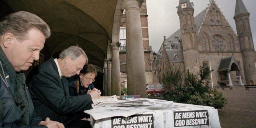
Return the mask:
M 111 50 L 112 50 L 111 86 L 112 86 L 112 95 L 116 95 L 116 96 L 121 95 L 119 46 L 120 44 L 111 44 Z

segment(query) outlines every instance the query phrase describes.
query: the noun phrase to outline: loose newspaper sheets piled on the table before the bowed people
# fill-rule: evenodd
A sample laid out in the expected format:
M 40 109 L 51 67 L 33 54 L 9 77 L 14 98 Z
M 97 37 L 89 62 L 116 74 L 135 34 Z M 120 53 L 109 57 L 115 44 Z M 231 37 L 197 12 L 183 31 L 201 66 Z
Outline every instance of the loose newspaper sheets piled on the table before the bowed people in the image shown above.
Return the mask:
M 84 112 L 90 114 L 94 120 L 113 116 L 128 117 L 135 114 L 142 114 L 143 112 L 166 108 L 166 106 L 170 106 L 173 103 L 172 101 L 146 98 L 118 100 L 116 95 L 93 100 L 92 102 L 92 109 Z M 159 104 L 166 104 L 166 106 L 159 106 Z

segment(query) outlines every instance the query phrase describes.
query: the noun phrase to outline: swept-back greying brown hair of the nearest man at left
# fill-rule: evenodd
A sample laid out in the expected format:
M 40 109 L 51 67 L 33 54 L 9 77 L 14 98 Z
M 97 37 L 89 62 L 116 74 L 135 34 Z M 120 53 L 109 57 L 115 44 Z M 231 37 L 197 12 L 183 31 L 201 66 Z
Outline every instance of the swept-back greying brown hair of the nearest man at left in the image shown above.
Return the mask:
M 30 12 L 20 11 L 9 14 L 0 22 L 0 36 L 10 32 L 17 40 L 26 39 L 28 30 L 36 28 L 45 38 L 51 35 L 50 27 L 40 17 Z

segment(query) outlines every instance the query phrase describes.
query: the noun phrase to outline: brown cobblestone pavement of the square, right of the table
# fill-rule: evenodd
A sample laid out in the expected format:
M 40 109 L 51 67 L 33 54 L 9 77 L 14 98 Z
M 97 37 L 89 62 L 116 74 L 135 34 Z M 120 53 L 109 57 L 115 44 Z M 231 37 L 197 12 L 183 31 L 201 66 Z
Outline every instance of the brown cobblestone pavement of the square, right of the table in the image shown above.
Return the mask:
M 256 88 L 246 91 L 244 86 L 235 86 L 233 90 L 217 90 L 228 100 L 225 108 L 218 109 L 222 128 L 256 128 Z

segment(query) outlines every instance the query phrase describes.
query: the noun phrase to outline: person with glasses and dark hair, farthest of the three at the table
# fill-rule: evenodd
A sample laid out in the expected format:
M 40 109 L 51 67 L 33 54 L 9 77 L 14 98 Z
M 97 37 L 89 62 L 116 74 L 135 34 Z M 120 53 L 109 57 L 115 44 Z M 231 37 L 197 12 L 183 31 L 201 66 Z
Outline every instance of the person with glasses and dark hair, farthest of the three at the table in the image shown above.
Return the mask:
M 97 70 L 92 64 L 87 64 L 80 71 L 79 75 L 71 77 L 69 80 L 70 96 L 79 96 L 87 94 L 94 88 L 94 78 L 97 76 Z

